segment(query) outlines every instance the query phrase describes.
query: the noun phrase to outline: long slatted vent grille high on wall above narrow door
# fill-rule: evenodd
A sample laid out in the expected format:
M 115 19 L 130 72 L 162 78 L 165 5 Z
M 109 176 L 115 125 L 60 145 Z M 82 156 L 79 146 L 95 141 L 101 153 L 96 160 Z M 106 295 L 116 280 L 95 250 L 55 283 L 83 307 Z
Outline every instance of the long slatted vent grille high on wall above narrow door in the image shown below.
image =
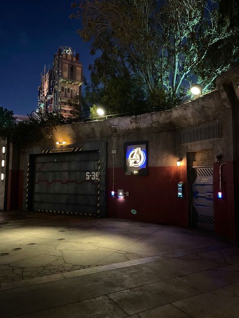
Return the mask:
M 180 132 L 180 144 L 219 138 L 219 124 Z

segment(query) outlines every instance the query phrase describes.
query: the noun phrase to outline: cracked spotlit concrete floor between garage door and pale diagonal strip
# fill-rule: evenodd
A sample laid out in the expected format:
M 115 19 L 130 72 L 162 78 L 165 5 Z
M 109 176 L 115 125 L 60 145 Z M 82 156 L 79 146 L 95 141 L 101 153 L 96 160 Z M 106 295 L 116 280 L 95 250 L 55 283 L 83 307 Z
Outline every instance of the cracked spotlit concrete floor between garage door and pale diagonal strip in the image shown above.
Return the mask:
M 218 244 L 221 249 L 194 257 L 238 266 L 238 248 L 223 249 L 223 241 L 203 231 L 121 219 L 1 212 L 0 283 Z

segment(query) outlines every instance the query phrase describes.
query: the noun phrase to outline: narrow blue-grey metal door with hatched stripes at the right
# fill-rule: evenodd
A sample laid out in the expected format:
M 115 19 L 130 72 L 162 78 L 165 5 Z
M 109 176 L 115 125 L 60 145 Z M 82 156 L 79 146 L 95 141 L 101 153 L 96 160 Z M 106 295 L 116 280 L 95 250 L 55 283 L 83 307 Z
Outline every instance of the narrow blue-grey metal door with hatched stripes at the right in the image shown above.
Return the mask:
M 214 231 L 213 167 L 193 170 L 193 225 Z

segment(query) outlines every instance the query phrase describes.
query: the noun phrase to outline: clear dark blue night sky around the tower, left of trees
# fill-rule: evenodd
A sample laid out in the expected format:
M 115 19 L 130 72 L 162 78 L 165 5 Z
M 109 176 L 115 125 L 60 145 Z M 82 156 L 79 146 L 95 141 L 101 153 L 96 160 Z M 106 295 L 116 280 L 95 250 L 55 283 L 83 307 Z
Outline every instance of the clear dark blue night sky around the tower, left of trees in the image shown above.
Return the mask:
M 37 88 L 44 64 L 52 65 L 59 46 L 80 54 L 89 77 L 93 62 L 89 44 L 76 34 L 79 20 L 71 20 L 72 0 L 1 0 L 0 105 L 15 114 L 30 114 L 37 107 Z

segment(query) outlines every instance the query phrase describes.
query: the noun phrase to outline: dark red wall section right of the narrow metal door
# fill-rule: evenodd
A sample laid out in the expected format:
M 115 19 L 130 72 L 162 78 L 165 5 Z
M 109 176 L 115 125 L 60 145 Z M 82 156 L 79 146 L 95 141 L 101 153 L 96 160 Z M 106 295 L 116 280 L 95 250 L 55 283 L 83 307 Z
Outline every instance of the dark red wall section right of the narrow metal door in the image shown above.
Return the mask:
M 235 240 L 235 209 L 234 209 L 234 183 L 233 163 L 226 162 L 221 167 L 221 188 L 223 198 L 218 199 L 219 192 L 219 166 L 213 167 L 213 196 L 214 196 L 214 219 L 215 232 Z

